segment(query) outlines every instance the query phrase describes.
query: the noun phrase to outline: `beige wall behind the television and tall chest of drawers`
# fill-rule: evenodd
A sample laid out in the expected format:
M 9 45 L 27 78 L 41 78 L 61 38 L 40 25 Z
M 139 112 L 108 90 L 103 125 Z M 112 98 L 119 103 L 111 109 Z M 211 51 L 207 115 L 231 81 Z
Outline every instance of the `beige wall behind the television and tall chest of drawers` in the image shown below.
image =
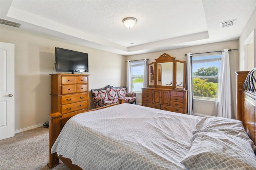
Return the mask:
M 60 42 L 51 37 L 0 26 L 0 41 L 15 44 L 15 130 L 48 121 L 50 75 L 55 72 L 55 47 L 89 55 L 89 90 L 126 85 L 125 57 L 89 47 Z M 91 98 L 91 93 L 90 98 Z M 92 99 L 91 99 L 92 101 Z M 92 104 L 93 105 L 93 104 Z

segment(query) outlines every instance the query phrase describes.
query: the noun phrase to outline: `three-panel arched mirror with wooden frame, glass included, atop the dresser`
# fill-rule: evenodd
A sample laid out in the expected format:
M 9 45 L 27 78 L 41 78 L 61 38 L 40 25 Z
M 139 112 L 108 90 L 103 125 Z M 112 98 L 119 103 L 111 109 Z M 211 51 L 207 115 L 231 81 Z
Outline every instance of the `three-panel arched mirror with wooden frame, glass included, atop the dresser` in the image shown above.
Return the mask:
M 184 89 L 186 61 L 175 60 L 166 53 L 155 60 L 148 64 L 148 86 Z

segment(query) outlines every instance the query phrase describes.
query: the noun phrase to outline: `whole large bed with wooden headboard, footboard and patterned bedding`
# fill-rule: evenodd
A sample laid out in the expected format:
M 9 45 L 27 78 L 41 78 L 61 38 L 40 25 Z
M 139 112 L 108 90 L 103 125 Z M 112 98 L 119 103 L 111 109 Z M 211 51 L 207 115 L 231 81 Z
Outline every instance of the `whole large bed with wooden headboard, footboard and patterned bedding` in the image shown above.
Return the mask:
M 236 72 L 238 120 L 122 100 L 76 115 L 52 113 L 48 166 L 60 159 L 70 169 L 86 170 L 256 169 L 254 71 Z

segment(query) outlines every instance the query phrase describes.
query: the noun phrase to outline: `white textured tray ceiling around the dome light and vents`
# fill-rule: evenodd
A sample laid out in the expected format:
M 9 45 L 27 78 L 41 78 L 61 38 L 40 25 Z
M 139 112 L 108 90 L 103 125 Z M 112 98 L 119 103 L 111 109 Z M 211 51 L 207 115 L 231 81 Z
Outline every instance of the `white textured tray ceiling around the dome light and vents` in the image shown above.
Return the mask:
M 255 7 L 256 0 L 1 0 L 0 18 L 22 24 L 16 29 L 133 55 L 236 40 Z M 126 17 L 137 18 L 133 28 L 122 23 Z

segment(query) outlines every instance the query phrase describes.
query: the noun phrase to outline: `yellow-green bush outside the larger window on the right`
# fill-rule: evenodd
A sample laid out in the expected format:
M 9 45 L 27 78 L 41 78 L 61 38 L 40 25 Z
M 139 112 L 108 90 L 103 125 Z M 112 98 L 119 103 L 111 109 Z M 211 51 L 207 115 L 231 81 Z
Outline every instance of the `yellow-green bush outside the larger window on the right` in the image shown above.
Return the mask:
M 193 78 L 193 95 L 197 97 L 216 97 L 216 83 L 207 82 L 207 79 Z

